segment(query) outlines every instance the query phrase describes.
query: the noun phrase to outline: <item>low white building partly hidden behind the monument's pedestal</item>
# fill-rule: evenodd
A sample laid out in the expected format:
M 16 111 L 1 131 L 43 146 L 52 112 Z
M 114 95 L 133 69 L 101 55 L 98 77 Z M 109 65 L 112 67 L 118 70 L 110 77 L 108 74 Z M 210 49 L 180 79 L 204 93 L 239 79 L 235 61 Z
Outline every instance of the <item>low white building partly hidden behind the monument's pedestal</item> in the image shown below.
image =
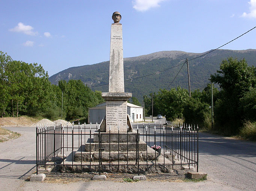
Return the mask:
M 127 114 L 132 122 L 143 121 L 143 107 L 127 103 Z M 106 116 L 106 102 L 90 107 L 88 112 L 88 123 L 100 123 Z

